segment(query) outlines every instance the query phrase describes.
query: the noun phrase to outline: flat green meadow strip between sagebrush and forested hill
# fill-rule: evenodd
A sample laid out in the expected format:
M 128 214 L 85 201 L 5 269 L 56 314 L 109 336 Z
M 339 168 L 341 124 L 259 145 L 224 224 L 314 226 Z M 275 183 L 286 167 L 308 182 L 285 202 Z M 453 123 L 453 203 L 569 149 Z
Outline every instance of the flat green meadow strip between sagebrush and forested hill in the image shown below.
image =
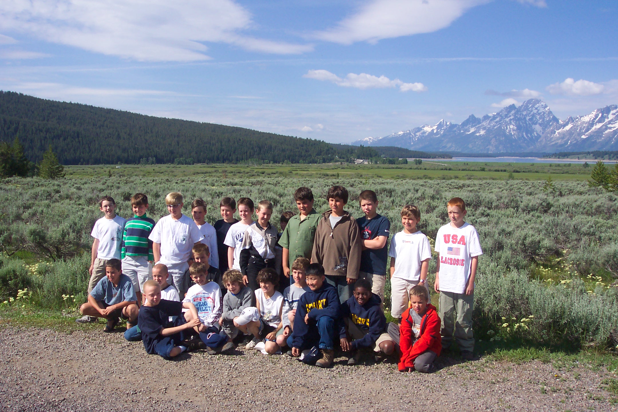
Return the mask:
M 439 159 L 422 164 L 173 164 L 67 166 L 67 177 L 339 177 L 342 179 L 443 179 L 443 180 L 586 180 L 591 166 L 583 164 L 507 163 L 507 162 L 444 162 Z

